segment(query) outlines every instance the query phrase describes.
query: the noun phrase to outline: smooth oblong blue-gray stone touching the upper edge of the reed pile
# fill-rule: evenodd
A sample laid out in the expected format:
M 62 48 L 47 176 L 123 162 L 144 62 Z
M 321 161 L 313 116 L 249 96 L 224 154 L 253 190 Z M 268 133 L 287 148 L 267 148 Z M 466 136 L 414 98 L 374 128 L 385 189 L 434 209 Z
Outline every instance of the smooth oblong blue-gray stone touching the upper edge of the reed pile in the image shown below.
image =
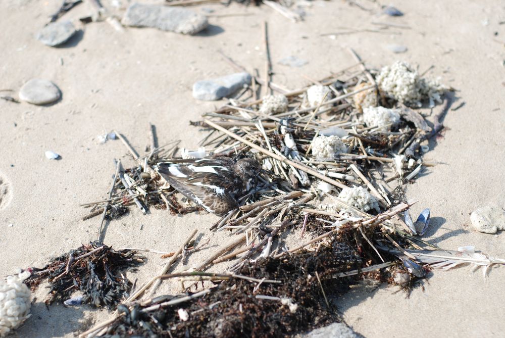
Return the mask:
M 235 73 L 215 79 L 198 81 L 193 84 L 193 98 L 203 101 L 220 100 L 250 82 L 251 76 L 247 73 Z

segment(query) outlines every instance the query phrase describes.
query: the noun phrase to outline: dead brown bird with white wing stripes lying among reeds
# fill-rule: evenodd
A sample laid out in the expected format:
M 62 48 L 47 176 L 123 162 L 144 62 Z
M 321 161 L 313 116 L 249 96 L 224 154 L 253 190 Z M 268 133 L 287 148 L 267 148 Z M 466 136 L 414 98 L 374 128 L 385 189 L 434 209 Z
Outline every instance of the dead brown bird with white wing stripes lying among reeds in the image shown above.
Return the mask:
M 205 210 L 225 215 L 256 185 L 261 165 L 253 158 L 209 157 L 183 165 L 160 162 L 158 172 L 182 195 Z

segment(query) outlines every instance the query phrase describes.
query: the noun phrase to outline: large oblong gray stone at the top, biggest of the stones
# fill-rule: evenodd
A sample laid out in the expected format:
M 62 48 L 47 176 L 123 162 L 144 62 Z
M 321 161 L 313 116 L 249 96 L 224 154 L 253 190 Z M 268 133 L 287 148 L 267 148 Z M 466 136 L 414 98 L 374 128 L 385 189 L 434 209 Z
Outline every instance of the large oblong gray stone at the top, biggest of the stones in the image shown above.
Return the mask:
M 125 26 L 151 27 L 182 34 L 196 34 L 209 25 L 206 16 L 185 8 L 137 3 L 128 7 L 121 23 Z

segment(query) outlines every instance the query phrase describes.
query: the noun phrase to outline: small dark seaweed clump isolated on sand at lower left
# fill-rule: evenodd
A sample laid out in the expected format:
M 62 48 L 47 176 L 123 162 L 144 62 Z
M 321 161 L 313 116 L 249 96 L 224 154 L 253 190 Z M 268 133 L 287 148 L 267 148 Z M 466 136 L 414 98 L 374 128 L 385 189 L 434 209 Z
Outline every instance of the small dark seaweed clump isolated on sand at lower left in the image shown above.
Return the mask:
M 51 287 L 46 303 L 63 303 L 72 293 L 80 291 L 83 303 L 114 309 L 129 296 L 132 286 L 124 270 L 136 267 L 145 257 L 135 251 L 115 251 L 99 243 L 83 245 L 57 257 L 43 269 L 32 268 L 26 284 L 35 289 L 47 280 Z

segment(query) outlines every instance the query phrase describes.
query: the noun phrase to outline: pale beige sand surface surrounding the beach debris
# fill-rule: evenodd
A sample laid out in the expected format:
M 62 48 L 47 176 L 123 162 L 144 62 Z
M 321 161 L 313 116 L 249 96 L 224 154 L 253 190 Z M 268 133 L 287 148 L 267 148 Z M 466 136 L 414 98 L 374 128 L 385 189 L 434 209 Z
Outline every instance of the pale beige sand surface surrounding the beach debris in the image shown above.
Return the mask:
M 0 100 L 0 275 L 12 274 L 17 267 L 43 266 L 49 258 L 96 239 L 99 217 L 80 221 L 86 210 L 78 205 L 106 197 L 114 158 L 125 167 L 133 164 L 120 141 L 99 144 L 97 135 L 117 129 L 143 153 L 151 122 L 160 144 L 181 139 L 184 146 L 195 147 L 204 134 L 189 127 L 189 120 L 199 119 L 219 103 L 195 101 L 193 82 L 235 72 L 217 50 L 249 70 L 262 70 L 264 20 L 270 25 L 273 81 L 290 89 L 309 84 L 302 75 L 318 79 L 354 64 L 347 47 L 371 68 L 397 59 L 419 65 L 421 72 L 433 65 L 428 75 L 441 76 L 442 82 L 457 89 L 459 101 L 453 107 L 465 105 L 449 112 L 444 137 L 430 143 L 426 158 L 443 164 L 408 187 L 408 197 L 419 200 L 413 213 L 431 208 L 427 238 L 443 248 L 474 245 L 491 256 L 505 257 L 504 235 L 474 231 L 469 217 L 478 207 L 505 204 L 505 25 L 499 25 L 505 20 L 503 3 L 397 1 L 394 5 L 406 15 L 389 18 L 342 1 L 318 0 L 300 23 L 291 23 L 266 6 L 210 4 L 192 9 L 246 15 L 211 17 L 210 29 L 196 36 L 135 28 L 120 33 L 105 22 L 91 23 L 80 27 L 82 32 L 68 45 L 51 48 L 34 35 L 60 3 L 0 2 L 0 89 L 17 91 L 31 78 L 45 78 L 63 92 L 62 100 L 48 107 Z M 371 2 L 360 3 L 373 8 Z M 110 6 L 107 1 L 105 5 Z M 64 18 L 78 24 L 77 19 L 89 13 L 88 4 L 82 4 Z M 389 30 L 400 35 L 321 36 L 347 28 L 376 28 L 372 21 L 411 29 Z M 406 45 L 409 50 L 395 55 L 387 50 L 388 44 Z M 291 55 L 309 63 L 301 68 L 278 64 Z M 46 150 L 62 159 L 47 160 Z M 175 217 L 158 210 L 142 216 L 133 209 L 108 224 L 105 243 L 171 252 L 197 228 L 211 245 L 190 255 L 186 265 L 191 266 L 230 241 L 224 232 L 206 230 L 217 219 L 207 214 Z M 163 263 L 159 255 L 147 257 L 149 262 L 131 276 L 139 283 Z M 183 269 L 180 263 L 177 269 Z M 395 287 L 375 291 L 359 287 L 340 301 L 339 310 L 347 324 L 366 337 L 502 336 L 504 278 L 505 268 L 492 269 L 486 280 L 468 267 L 434 271 L 424 291 L 418 287 L 410 298 Z M 174 290 L 174 285 L 165 284 L 160 292 Z M 45 292 L 37 292 L 32 317 L 17 330 L 18 336 L 72 336 L 81 325 L 108 318 L 107 313 L 85 306 L 47 310 Z

